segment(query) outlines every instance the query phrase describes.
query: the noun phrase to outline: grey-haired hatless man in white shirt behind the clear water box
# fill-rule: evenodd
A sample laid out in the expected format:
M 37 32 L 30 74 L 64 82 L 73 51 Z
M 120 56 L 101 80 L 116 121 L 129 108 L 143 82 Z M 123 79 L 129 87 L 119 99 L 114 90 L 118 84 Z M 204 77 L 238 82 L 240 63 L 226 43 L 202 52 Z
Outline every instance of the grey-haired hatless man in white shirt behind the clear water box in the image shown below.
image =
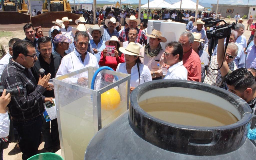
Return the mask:
M 62 58 L 56 77 L 90 66 L 99 68 L 97 58 L 93 54 L 87 52 L 89 35 L 86 32 L 80 31 L 76 33 L 74 44 L 76 46 L 74 51 Z M 99 79 L 99 76 L 97 76 L 97 82 Z M 87 86 L 88 73 L 81 73 L 79 77 L 75 76 L 73 78 L 68 78 L 66 81 Z M 97 86 L 99 86 L 98 84 L 99 83 L 96 83 Z

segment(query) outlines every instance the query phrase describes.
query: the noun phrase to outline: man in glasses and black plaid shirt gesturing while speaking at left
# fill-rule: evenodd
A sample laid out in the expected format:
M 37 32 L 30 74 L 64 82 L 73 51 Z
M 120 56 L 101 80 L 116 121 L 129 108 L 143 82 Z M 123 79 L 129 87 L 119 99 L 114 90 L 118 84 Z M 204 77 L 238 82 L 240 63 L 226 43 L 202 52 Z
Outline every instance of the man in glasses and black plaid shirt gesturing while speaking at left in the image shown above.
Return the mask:
M 13 58 L 1 76 L 1 85 L 7 89 L 23 85 L 24 95 L 11 98 L 8 108 L 13 117 L 14 128 L 21 139 L 19 142 L 22 159 L 37 154 L 42 128 L 41 114 L 44 112 L 44 102 L 52 101 L 42 94 L 46 91 L 51 74 L 39 78 L 38 84 L 30 70 L 37 60 L 34 44 L 26 40 L 18 40 L 13 45 Z

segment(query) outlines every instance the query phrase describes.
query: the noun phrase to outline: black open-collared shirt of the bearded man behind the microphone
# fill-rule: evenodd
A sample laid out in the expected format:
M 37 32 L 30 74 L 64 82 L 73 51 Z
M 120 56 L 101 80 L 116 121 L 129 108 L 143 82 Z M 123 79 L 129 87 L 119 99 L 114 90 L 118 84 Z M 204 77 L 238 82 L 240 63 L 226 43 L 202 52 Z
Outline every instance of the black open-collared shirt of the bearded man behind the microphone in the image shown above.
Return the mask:
M 39 74 L 40 74 L 39 69 L 40 68 L 45 69 L 45 75 L 47 75 L 48 73 L 51 73 L 51 79 L 55 78 L 55 75 L 59 69 L 60 62 L 61 62 L 60 56 L 55 56 L 55 55 L 51 54 L 50 64 L 48 64 L 43 59 L 41 54 L 39 56 L 37 56 L 37 58 L 38 58 L 38 60 L 36 61 L 34 67 L 31 68 L 31 71 L 32 71 L 36 81 L 38 82 L 38 80 L 39 80 Z M 46 91 L 43 95 L 45 97 L 54 97 L 54 90 Z

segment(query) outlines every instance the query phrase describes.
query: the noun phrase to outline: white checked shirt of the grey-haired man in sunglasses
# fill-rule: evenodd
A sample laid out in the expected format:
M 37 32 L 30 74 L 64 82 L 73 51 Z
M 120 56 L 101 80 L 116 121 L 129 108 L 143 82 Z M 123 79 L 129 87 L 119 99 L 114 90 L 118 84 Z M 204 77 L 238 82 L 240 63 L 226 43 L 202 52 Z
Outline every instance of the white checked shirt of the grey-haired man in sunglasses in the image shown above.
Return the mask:
M 217 87 L 221 87 L 222 85 L 222 77 L 221 77 L 221 73 L 220 70 L 212 70 L 218 68 L 218 61 L 217 61 L 217 55 L 216 56 L 212 56 L 211 59 L 211 63 L 210 66 L 208 68 L 208 73 L 205 77 L 204 83 L 207 84 L 211 84 L 213 86 L 217 86 Z M 231 71 L 234 71 L 237 69 L 237 66 L 235 65 L 234 61 L 228 63 L 228 67 Z

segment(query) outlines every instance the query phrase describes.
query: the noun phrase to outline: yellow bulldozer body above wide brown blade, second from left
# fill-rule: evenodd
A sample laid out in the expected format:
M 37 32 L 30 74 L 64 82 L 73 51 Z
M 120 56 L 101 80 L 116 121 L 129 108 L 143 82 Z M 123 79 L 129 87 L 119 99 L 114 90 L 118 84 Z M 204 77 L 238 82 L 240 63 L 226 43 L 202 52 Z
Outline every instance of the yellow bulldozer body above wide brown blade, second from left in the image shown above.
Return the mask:
M 71 12 L 71 6 L 66 0 L 45 0 L 42 6 L 42 13 L 65 11 Z

